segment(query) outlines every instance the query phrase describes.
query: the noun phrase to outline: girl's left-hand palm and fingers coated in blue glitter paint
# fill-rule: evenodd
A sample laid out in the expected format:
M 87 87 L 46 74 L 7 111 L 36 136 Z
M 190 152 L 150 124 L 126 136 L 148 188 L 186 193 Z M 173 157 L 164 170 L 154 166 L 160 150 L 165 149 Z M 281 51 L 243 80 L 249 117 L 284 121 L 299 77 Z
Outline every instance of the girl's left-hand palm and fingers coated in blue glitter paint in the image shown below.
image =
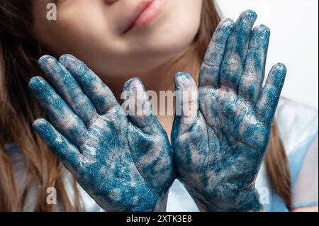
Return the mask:
M 155 115 L 126 116 L 111 90 L 71 55 L 60 62 L 45 56 L 39 65 L 52 86 L 33 77 L 30 89 L 52 125 L 38 119 L 33 127 L 79 184 L 104 210 L 163 210 L 174 173 Z M 124 89 L 152 111 L 139 79 Z

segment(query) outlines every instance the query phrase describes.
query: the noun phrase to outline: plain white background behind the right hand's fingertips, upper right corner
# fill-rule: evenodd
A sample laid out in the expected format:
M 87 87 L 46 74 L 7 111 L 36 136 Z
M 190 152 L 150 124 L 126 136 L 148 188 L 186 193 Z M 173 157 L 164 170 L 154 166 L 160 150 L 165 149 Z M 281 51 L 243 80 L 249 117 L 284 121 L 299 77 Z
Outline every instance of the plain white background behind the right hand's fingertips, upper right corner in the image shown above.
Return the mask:
M 272 30 L 267 72 L 288 68 L 283 96 L 318 109 L 318 0 L 216 0 L 223 17 L 253 9 Z

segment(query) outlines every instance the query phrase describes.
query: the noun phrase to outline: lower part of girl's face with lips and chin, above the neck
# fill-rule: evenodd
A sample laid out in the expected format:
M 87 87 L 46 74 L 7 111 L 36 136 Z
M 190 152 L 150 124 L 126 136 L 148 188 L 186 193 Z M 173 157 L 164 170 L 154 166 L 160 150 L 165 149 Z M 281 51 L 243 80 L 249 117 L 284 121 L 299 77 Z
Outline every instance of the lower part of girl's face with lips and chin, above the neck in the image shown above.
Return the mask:
M 109 76 L 159 67 L 194 40 L 201 20 L 202 0 L 57 0 L 56 21 L 47 20 L 50 2 L 33 0 L 40 42 Z

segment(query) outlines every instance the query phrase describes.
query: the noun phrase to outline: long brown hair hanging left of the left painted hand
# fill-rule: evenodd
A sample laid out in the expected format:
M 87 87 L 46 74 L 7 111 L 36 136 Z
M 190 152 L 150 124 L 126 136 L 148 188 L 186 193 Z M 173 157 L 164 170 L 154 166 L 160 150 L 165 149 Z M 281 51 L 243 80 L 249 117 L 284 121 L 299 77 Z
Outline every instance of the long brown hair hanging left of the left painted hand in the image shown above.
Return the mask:
M 64 168 L 31 125 L 45 118 L 30 94 L 28 81 L 42 74 L 36 65 L 41 51 L 32 30 L 30 1 L 13 0 L 0 3 L 0 211 L 21 211 L 31 188 L 38 188 L 35 211 L 55 211 L 48 205 L 47 188 L 57 189 L 62 210 L 82 210 L 74 180 L 74 205 L 67 196 L 63 181 Z M 8 143 L 20 147 L 28 166 L 28 182 L 19 191 L 13 165 L 5 150 Z

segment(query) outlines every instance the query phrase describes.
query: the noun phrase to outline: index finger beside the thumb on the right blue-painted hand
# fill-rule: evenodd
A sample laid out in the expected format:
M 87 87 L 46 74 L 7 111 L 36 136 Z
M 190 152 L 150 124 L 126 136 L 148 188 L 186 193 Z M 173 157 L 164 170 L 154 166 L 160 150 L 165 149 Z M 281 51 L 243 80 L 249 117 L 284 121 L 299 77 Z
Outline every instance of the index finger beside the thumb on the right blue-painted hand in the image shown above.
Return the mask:
M 233 20 L 225 19 L 216 28 L 201 66 L 199 86 L 219 86 L 220 64 L 223 62 L 227 40 L 234 25 Z

